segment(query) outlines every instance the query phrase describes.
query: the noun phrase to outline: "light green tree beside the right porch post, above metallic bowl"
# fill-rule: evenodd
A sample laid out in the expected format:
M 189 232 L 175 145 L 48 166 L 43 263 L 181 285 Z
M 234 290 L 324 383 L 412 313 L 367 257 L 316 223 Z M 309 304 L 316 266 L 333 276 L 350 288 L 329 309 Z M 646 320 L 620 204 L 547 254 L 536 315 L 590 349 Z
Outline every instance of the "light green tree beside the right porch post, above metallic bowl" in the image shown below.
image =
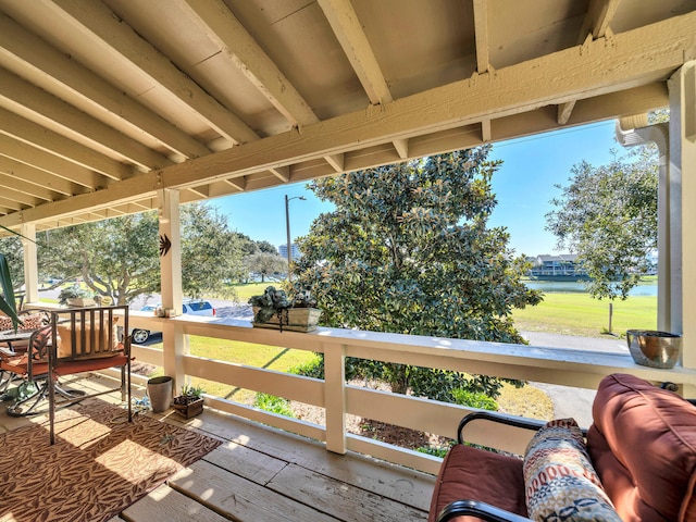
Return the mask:
M 607 165 L 573 166 L 569 185 L 546 214 L 558 248 L 576 253 L 596 298 L 625 299 L 657 250 L 658 162 L 655 148 L 614 157 Z

